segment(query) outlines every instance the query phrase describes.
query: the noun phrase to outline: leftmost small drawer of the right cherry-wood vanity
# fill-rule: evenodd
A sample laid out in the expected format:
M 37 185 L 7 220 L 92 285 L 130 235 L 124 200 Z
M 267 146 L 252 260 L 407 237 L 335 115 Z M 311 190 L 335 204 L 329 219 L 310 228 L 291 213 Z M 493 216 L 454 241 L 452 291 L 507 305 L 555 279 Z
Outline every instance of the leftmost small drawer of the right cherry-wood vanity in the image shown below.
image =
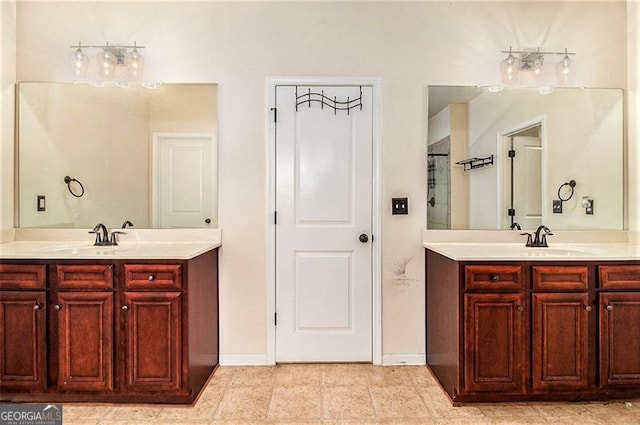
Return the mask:
M 465 266 L 465 289 L 519 291 L 523 289 L 522 267 L 510 265 Z

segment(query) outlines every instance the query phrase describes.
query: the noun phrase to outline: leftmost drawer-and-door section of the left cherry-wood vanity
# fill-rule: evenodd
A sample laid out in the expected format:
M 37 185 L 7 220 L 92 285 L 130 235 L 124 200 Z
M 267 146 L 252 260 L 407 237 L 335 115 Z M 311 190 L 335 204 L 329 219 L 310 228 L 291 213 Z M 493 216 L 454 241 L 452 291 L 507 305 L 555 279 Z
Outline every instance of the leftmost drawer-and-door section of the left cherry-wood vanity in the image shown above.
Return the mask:
M 1 389 L 44 390 L 46 266 L 0 264 Z

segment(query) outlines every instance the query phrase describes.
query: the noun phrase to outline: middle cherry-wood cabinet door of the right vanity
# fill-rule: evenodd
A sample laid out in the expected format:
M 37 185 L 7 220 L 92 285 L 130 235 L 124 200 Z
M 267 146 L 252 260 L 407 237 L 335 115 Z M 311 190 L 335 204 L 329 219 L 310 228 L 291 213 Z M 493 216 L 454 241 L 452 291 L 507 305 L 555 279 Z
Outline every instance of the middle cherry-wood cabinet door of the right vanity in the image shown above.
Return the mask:
M 533 294 L 534 390 L 589 386 L 590 311 L 587 293 Z

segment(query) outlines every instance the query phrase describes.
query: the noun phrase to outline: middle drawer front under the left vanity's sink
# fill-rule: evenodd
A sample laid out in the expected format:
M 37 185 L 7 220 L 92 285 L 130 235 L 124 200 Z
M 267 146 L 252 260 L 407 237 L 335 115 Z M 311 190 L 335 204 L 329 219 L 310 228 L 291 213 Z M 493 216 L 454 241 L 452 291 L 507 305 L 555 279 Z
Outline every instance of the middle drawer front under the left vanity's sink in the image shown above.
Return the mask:
M 111 289 L 113 266 L 110 264 L 64 264 L 56 266 L 58 289 Z

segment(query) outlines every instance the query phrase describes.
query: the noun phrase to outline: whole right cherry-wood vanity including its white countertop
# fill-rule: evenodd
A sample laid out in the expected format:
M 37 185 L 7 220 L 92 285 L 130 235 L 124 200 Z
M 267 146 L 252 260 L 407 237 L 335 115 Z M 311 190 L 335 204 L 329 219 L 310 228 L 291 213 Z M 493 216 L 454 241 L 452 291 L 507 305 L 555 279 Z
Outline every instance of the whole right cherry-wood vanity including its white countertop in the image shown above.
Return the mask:
M 560 233 L 425 231 L 427 364 L 454 404 L 640 396 L 640 245 Z

